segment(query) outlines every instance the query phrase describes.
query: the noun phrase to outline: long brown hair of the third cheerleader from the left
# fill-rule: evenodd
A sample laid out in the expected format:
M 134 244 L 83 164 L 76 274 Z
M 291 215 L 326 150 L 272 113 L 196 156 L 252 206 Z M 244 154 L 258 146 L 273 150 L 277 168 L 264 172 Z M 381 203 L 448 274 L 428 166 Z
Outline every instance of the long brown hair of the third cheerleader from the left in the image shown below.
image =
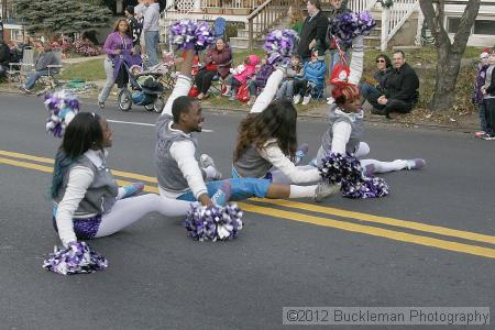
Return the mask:
M 249 114 L 239 124 L 239 135 L 233 154 L 239 161 L 248 147 L 265 147 L 270 139 L 277 139 L 282 152 L 294 160 L 297 150 L 297 111 L 289 101 L 272 102 L 263 112 Z

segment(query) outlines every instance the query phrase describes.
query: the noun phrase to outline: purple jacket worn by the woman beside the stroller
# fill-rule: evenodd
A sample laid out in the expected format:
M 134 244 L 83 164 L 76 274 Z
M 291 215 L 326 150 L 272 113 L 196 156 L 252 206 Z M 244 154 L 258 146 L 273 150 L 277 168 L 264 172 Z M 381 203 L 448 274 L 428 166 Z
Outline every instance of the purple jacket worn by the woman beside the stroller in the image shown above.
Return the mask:
M 103 51 L 107 56 L 113 62 L 113 78 L 117 79 L 119 75 L 120 66 L 123 62 L 128 64 L 129 67 L 135 65 L 141 65 L 141 56 L 131 55 L 131 50 L 133 47 L 132 38 L 124 34 L 122 37 L 119 32 L 112 32 L 107 36 L 105 41 Z M 122 53 L 117 54 L 118 50 L 122 50 Z

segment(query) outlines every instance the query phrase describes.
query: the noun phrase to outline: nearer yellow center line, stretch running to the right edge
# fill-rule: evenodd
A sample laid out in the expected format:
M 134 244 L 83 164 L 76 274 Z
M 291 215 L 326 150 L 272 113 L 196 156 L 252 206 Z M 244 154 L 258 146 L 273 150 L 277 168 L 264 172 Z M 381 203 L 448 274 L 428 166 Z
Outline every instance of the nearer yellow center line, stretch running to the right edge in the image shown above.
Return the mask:
M 458 242 L 452 242 L 452 241 L 447 241 L 447 240 L 439 240 L 439 239 L 421 237 L 421 235 L 410 234 L 410 233 L 400 232 L 400 231 L 394 231 L 394 230 L 382 229 L 382 228 L 376 228 L 376 227 L 356 224 L 356 223 L 352 223 L 352 222 L 338 221 L 338 220 L 328 219 L 328 218 L 320 218 L 320 217 L 301 215 L 301 213 L 296 213 L 296 212 L 276 210 L 276 209 L 272 209 L 272 208 L 266 208 L 266 207 L 261 207 L 261 206 L 255 206 L 255 205 L 250 205 L 250 204 L 244 204 L 244 202 L 238 202 L 238 205 L 245 211 L 258 213 L 258 215 L 263 215 L 263 216 L 289 219 L 289 220 L 294 220 L 294 221 L 298 221 L 298 222 L 312 223 L 312 224 L 322 226 L 322 227 L 337 228 L 337 229 L 341 229 L 341 230 L 345 230 L 345 231 L 386 238 L 386 239 L 391 239 L 394 241 L 415 243 L 415 244 L 419 244 L 419 245 L 432 246 L 432 248 L 438 248 L 438 249 L 442 249 L 442 250 L 449 250 L 449 251 L 454 251 L 454 252 L 461 252 L 461 253 L 468 253 L 468 254 L 474 254 L 474 255 L 479 255 L 479 256 L 495 258 L 495 250 L 494 249 L 463 244 L 463 243 L 458 243 Z

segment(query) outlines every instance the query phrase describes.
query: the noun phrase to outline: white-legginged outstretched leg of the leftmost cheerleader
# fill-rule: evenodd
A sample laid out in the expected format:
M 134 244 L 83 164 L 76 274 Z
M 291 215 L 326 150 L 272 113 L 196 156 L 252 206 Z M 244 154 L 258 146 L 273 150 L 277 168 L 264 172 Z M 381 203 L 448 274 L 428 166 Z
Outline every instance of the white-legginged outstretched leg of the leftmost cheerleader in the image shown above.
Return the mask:
M 146 194 L 116 201 L 111 211 L 101 217 L 96 238 L 111 235 L 136 222 L 150 212 L 166 217 L 185 216 L 190 210 L 190 201 L 170 199 L 156 194 Z

